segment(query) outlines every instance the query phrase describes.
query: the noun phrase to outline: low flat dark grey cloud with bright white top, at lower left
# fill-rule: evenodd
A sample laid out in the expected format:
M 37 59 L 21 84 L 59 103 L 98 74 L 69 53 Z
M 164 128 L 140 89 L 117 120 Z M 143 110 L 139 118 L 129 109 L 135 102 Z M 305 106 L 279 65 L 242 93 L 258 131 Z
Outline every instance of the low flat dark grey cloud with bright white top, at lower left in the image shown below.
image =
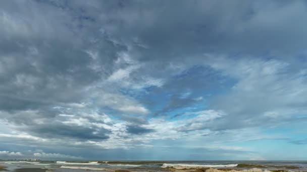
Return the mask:
M 32 136 L 52 139 L 76 140 L 105 140 L 108 139 L 110 130 L 92 124 L 106 124 L 103 121 L 86 118 L 66 118 L 57 116 L 59 112 L 48 113 L 24 111 L 15 113 L 2 113 L 0 116 L 14 124 L 14 129 L 24 131 Z M 103 120 L 104 116 L 98 116 Z

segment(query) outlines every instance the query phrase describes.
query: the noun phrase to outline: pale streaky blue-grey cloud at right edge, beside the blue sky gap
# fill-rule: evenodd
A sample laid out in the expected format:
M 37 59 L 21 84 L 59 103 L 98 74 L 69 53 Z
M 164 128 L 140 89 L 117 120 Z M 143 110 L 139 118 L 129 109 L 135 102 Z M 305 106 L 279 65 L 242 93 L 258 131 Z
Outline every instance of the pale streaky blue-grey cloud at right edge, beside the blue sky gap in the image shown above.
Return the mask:
M 227 94 L 211 103 L 213 108 L 219 107 L 228 114 L 216 129 L 277 125 L 304 118 L 295 115 L 306 113 L 302 98 L 307 93 L 305 74 L 303 69 L 296 68 L 297 64 L 224 57 L 213 57 L 208 63 L 222 75 L 237 80 Z

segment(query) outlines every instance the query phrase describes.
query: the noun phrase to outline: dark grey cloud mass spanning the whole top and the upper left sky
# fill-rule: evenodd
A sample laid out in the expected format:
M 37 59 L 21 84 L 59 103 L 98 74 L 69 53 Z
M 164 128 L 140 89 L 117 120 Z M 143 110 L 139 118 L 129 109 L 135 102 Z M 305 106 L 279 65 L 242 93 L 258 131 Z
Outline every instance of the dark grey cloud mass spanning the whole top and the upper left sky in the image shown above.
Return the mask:
M 48 104 L 82 100 L 84 96 L 82 89 L 99 80 L 101 76 L 106 78 L 112 73 L 114 62 L 118 58 L 117 53 L 126 51 L 128 45 L 136 47 L 131 50 L 131 53 L 140 60 L 156 61 L 161 57 L 168 62 L 168 59 L 178 58 L 183 62 L 190 61 L 188 63 L 195 64 L 195 61 L 206 60 L 195 59 L 195 56 L 202 53 L 216 51 L 220 53 L 247 51 L 250 53 L 251 48 L 258 50 L 259 53 L 266 53 L 268 51 L 267 44 L 271 45 L 269 47 L 274 51 L 282 52 L 287 49 L 295 49 L 295 52 L 298 52 L 297 48 L 300 46 L 295 46 L 295 48 L 292 46 L 300 43 L 298 41 L 305 40 L 302 39 L 305 35 L 305 32 L 302 32 L 304 25 L 296 27 L 295 32 L 293 28 L 288 28 L 293 26 L 291 25 L 293 22 L 294 24 L 295 22 L 304 23 L 304 18 L 299 16 L 302 16 L 300 14 L 303 13 L 305 6 L 300 1 L 288 4 L 277 1 L 269 3 L 234 1 L 228 2 L 227 5 L 207 1 L 179 1 L 176 2 L 177 8 L 171 8 L 172 1 L 146 3 L 138 1 L 127 3 L 38 1 L 37 3 L 24 3 L 23 5 L 26 5 L 27 8 L 34 10 L 33 13 L 20 8 L 22 5 L 18 2 L 3 2 L 3 4 L 6 18 L 15 19 L 15 16 L 23 14 L 24 20 L 16 25 L 20 24 L 27 30 L 26 33 L 21 31 L 21 33 L 16 33 L 15 30 L 10 32 L 5 28 L 6 35 L 11 35 L 11 37 L 7 37 L 2 43 L 5 45 L 2 46 L 3 52 L 6 52 L 3 56 L 11 56 L 10 60 L 15 61 L 15 66 L 8 65 L 10 70 L 6 70 L 6 73 L 10 74 L 3 74 L 7 78 L 3 78 L 3 81 L 8 86 L 2 91 L 6 93 L 2 100 L 8 100 L 2 103 L 3 108 L 6 109 L 9 109 L 10 106 L 22 108 L 21 105 L 10 104 L 15 101 L 14 96 L 29 99 L 29 105 L 27 102 L 20 103 L 24 106 L 23 109 L 34 108 L 33 101 L 35 102 L 35 100 L 38 102 L 37 106 L 41 106 L 42 99 Z M 14 6 L 19 8 L 8 11 Z M 42 9 L 38 7 L 42 7 Z M 99 8 L 103 10 L 98 11 Z M 271 8 L 274 10 L 270 10 Z M 142 11 L 141 9 L 147 10 Z M 35 15 L 43 10 L 47 12 L 43 17 Z M 59 11 L 61 17 L 52 16 L 50 11 L 53 10 Z M 287 15 L 290 12 L 293 14 Z M 146 15 L 142 15 L 143 13 Z M 268 15 L 264 18 L 263 14 L 266 13 Z M 104 18 L 104 15 L 108 16 Z M 288 18 L 282 18 L 284 15 Z M 30 20 L 32 16 L 34 19 Z M 294 18 L 296 20 L 293 21 Z M 49 24 L 45 22 L 46 19 Z M 283 19 L 282 22 L 279 22 L 281 19 Z M 270 20 L 273 21 L 270 22 Z M 274 21 L 279 25 L 275 26 L 278 29 L 273 32 L 269 28 L 272 28 L 271 23 Z M 44 25 L 37 25 L 39 23 L 44 23 Z M 267 25 L 260 25 L 260 23 Z M 35 29 L 29 30 L 29 28 Z M 101 28 L 103 28 L 103 33 L 101 33 Z M 78 32 L 75 32 L 74 29 Z M 295 33 L 294 36 L 297 35 L 300 39 L 294 39 L 293 35 L 291 39 L 285 37 L 285 35 L 291 34 L 284 33 L 291 31 Z M 299 35 L 300 33 L 301 35 Z M 262 34 L 266 36 L 261 36 Z M 287 41 L 279 40 L 281 38 Z M 15 39 L 18 40 L 18 44 Z M 245 40 L 252 42 L 252 47 L 247 47 L 251 44 L 246 43 Z M 290 43 L 289 40 L 293 42 Z M 116 41 L 118 41 L 117 44 Z M 280 42 L 286 42 L 287 45 L 283 44 L 282 46 L 287 47 L 280 47 L 278 45 Z M 136 44 L 148 48 L 138 47 Z M 304 45 L 303 42 L 301 45 Z M 31 47 L 34 47 L 32 51 L 37 51 L 37 54 L 31 54 Z M 89 49 L 98 50 L 97 60 L 93 61 L 85 52 Z M 24 57 L 26 52 L 28 55 Z M 100 70 L 93 70 L 90 67 L 92 63 L 100 66 Z M 147 72 L 151 72 L 151 70 L 147 70 Z M 165 71 L 162 70 L 162 72 Z M 14 83 L 18 75 L 29 81 L 36 79 L 35 83 L 33 83 L 34 81 L 29 83 L 32 88 Z M 136 77 L 138 75 L 139 73 Z M 151 75 L 155 75 L 155 73 Z M 47 85 L 54 87 L 48 88 Z M 195 84 L 192 89 L 195 89 L 196 85 L 203 84 Z M 16 90 L 20 90 L 21 93 L 15 93 Z

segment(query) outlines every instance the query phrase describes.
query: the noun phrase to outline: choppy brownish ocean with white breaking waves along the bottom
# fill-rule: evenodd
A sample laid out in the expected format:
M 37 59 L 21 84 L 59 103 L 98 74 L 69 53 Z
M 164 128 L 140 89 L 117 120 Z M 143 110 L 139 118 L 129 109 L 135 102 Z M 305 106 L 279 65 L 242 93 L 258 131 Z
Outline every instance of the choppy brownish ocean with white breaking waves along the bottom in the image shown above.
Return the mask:
M 0 170 L 39 171 L 306 171 L 307 161 L 0 161 Z

